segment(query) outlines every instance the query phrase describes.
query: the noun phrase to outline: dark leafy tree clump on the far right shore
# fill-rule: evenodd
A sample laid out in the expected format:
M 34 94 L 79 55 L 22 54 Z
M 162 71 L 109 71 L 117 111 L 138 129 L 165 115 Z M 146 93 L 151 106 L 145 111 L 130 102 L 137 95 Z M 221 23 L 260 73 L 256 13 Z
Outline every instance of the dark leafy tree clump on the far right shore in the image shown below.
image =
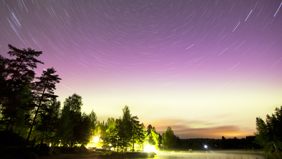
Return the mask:
M 275 108 L 275 113 L 266 115 L 266 122 L 256 117 L 256 143 L 261 145 L 265 152 L 282 152 L 282 106 Z

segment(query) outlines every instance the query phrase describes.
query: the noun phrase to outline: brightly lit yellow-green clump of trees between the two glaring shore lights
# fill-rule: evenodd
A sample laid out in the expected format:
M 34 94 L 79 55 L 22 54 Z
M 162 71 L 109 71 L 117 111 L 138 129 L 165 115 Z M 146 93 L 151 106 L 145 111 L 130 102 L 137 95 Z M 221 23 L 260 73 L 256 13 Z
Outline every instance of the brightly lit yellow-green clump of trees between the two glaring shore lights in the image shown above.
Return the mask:
M 117 119 L 109 117 L 107 122 L 98 123 L 104 147 L 118 152 L 128 149 L 144 150 L 146 145 L 150 145 L 150 150 L 152 148 L 159 150 L 158 145 L 161 144 L 162 136 L 156 132 L 155 127 L 148 125 L 146 130 L 145 125 L 138 121 L 138 117 L 130 114 L 127 105 L 122 112 L 122 116 Z

